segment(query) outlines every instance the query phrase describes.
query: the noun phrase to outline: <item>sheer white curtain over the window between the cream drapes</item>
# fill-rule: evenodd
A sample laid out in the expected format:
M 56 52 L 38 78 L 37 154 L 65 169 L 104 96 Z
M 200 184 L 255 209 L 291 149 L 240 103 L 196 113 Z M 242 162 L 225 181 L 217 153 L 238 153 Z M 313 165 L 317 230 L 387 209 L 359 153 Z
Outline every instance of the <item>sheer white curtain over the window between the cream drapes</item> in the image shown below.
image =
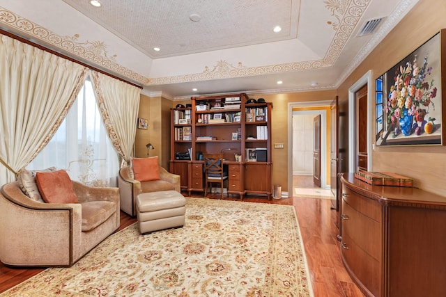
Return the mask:
M 66 120 L 28 169 L 66 169 L 70 178 L 89 186 L 117 186 L 118 154 L 109 141 L 87 80 Z

